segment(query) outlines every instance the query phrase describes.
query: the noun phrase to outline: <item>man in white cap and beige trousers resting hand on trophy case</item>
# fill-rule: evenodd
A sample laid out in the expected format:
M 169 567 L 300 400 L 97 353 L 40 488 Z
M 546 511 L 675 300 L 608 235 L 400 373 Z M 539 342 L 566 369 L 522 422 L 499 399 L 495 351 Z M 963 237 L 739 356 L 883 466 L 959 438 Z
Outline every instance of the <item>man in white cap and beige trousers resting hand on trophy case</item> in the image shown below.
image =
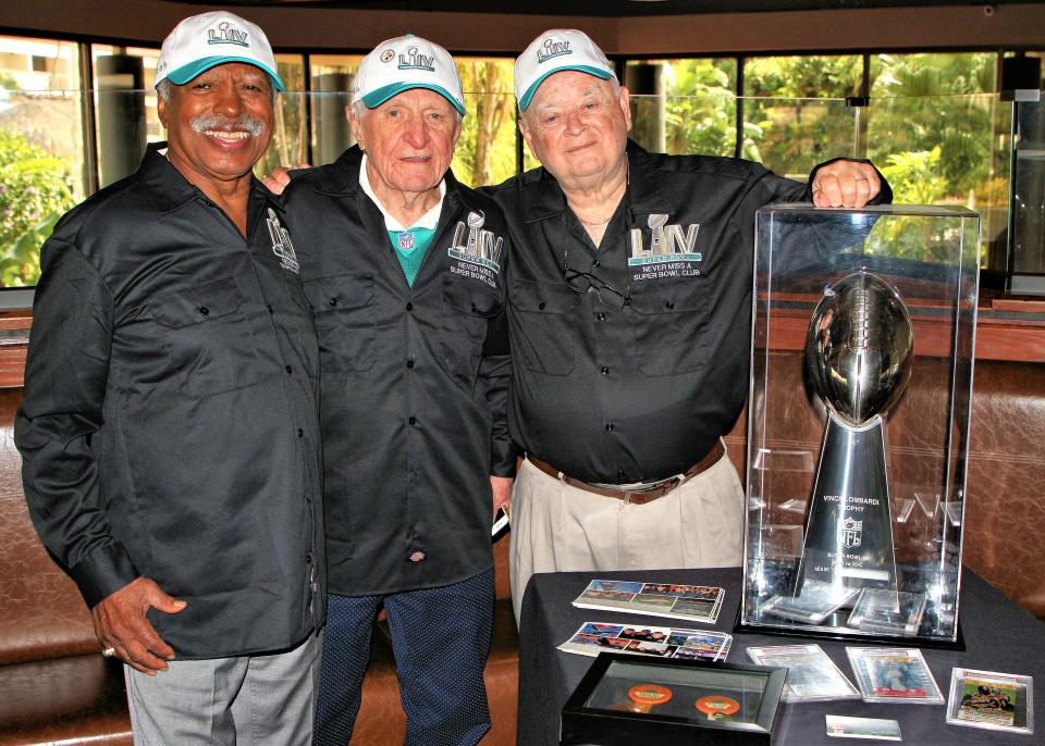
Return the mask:
M 649 153 L 628 91 L 578 30 L 515 65 L 543 167 L 494 190 L 517 250 L 508 282 L 516 618 L 531 573 L 741 561 L 743 494 L 722 436 L 748 390 L 754 211 L 890 198 L 869 163 L 810 186 L 757 163 Z

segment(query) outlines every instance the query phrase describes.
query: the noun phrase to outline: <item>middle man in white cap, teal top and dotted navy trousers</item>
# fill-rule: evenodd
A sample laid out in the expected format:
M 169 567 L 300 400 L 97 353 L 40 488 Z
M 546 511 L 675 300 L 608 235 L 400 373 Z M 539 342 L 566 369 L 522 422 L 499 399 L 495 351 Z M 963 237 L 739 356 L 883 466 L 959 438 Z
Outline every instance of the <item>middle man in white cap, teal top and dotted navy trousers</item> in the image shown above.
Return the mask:
M 442 47 L 379 43 L 347 113 L 358 146 L 284 192 L 322 371 L 330 596 L 316 743 L 352 734 L 383 605 L 406 743 L 475 744 L 490 726 L 490 524 L 515 471 L 504 217 L 450 171 L 465 104 Z

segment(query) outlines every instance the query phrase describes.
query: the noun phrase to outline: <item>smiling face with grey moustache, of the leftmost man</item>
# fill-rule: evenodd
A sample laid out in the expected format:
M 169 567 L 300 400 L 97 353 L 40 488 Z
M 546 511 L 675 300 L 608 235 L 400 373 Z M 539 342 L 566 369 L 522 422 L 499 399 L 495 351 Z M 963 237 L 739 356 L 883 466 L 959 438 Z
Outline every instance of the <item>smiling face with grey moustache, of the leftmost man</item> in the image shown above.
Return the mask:
M 272 138 L 273 91 L 254 65 L 230 62 L 171 86 L 157 103 L 168 159 L 205 194 L 246 179 Z

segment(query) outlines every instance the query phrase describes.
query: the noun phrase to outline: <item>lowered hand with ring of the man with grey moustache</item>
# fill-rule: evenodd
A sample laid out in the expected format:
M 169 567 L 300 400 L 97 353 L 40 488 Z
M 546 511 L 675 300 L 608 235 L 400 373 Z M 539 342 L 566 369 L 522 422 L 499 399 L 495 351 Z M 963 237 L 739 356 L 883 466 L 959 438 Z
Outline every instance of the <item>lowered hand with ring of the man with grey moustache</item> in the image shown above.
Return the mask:
M 145 614 L 150 608 L 173 614 L 186 606 L 187 602 L 171 598 L 148 577 L 138 577 L 98 601 L 90 616 L 102 648 L 113 648 L 120 660 L 155 676 L 157 671 L 167 671 L 167 661 L 174 660 L 174 650 L 156 633 Z

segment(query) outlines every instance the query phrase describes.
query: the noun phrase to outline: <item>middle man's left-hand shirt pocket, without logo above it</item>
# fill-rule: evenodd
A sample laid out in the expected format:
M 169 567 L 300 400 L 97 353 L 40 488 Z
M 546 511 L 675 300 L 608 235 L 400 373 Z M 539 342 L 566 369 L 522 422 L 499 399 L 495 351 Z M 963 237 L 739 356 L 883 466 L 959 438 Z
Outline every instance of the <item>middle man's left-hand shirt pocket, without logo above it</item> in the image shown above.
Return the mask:
M 373 275 L 355 273 L 305 282 L 319 337 L 322 371 L 369 371 L 374 363 L 377 320 Z

